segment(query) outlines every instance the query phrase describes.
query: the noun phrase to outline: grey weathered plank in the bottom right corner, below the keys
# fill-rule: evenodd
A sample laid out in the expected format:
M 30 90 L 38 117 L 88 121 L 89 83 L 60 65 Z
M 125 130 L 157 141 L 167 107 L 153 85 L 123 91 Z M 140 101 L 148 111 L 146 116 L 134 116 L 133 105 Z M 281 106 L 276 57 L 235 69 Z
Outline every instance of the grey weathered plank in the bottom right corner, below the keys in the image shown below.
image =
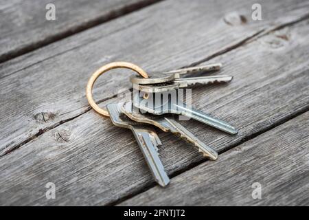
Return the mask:
M 181 173 L 170 186 L 155 186 L 120 205 L 308 206 L 308 124 L 307 111 L 222 153 L 216 162 Z M 262 186 L 260 199 L 253 183 Z

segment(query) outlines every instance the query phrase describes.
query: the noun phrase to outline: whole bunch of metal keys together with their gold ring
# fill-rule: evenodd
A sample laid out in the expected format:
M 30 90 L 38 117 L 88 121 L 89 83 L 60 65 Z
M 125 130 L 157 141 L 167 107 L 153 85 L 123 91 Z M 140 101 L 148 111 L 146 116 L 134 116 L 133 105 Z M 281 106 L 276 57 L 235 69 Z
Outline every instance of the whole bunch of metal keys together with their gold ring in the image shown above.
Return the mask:
M 104 65 L 98 69 L 89 79 L 87 85 L 87 99 L 91 107 L 98 113 L 104 116 L 109 116 L 115 126 L 120 126 L 130 129 L 137 140 L 137 144 L 143 153 L 146 162 L 150 168 L 152 176 L 160 186 L 167 186 L 170 179 L 165 172 L 163 164 L 159 158 L 157 146 L 161 145 L 157 133 L 153 126 L 158 127 L 162 131 L 171 132 L 179 135 L 187 142 L 198 148 L 198 151 L 211 160 L 218 158 L 218 153 L 211 147 L 207 146 L 201 140 L 198 140 L 194 134 L 181 126 L 173 115 L 185 115 L 194 120 L 203 122 L 209 126 L 213 126 L 220 131 L 225 131 L 229 134 L 238 133 L 233 126 L 218 120 L 211 115 L 187 107 L 181 100 L 170 98 L 162 100 L 162 95 L 168 94 L 173 89 L 185 88 L 192 85 L 207 85 L 210 83 L 229 83 L 232 76 L 198 76 L 183 78 L 183 75 L 194 74 L 199 72 L 209 72 L 220 69 L 221 64 L 205 65 L 201 67 L 190 67 L 178 69 L 171 72 L 162 72 L 148 76 L 143 69 L 137 65 L 126 62 L 115 62 Z M 137 72 L 141 77 L 131 77 L 130 82 L 133 83 L 133 88 L 137 88 L 139 92 L 133 92 L 133 100 L 126 102 L 113 103 L 107 105 L 107 111 L 98 107 L 92 96 L 92 89 L 95 80 L 104 72 L 110 69 L 127 68 Z M 159 102 L 155 102 L 153 97 L 161 97 Z M 157 99 L 156 99 L 157 100 Z

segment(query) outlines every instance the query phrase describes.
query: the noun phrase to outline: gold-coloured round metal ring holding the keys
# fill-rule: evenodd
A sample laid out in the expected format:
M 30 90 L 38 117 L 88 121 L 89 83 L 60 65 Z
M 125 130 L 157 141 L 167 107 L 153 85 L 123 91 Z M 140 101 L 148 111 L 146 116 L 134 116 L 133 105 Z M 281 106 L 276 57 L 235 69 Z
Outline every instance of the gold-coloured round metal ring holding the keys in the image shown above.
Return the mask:
M 137 65 L 134 65 L 133 63 L 127 63 L 127 62 L 108 63 L 100 67 L 100 69 L 98 69 L 97 71 L 95 71 L 93 75 L 91 76 L 91 78 L 89 78 L 89 81 L 87 84 L 87 88 L 86 88 L 87 100 L 89 104 L 91 105 L 91 107 L 96 112 L 100 113 L 101 115 L 108 116 L 108 117 L 109 117 L 108 111 L 106 111 L 105 109 L 101 109 L 98 106 L 98 104 L 95 103 L 95 100 L 93 100 L 92 89 L 93 89 L 93 84 L 95 83 L 95 80 L 97 80 L 99 76 L 101 76 L 105 72 L 108 72 L 108 70 L 117 69 L 117 68 L 132 69 L 133 71 L 137 72 L 137 74 L 141 75 L 142 77 L 148 78 L 148 74 L 143 69 L 141 69 Z

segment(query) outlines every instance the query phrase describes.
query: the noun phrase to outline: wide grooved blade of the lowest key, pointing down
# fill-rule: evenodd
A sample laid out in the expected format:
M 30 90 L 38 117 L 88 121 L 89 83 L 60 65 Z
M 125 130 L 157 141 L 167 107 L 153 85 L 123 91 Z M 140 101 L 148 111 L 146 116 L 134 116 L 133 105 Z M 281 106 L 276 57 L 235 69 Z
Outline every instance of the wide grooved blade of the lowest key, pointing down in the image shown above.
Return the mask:
M 155 177 L 155 181 L 157 181 L 160 186 L 167 186 L 170 183 L 170 178 L 165 173 L 157 152 L 157 146 L 155 146 L 155 142 L 152 142 L 152 140 L 156 140 L 159 137 L 154 137 L 152 132 L 148 132 L 144 129 L 133 128 L 132 131 L 151 170 L 152 176 Z

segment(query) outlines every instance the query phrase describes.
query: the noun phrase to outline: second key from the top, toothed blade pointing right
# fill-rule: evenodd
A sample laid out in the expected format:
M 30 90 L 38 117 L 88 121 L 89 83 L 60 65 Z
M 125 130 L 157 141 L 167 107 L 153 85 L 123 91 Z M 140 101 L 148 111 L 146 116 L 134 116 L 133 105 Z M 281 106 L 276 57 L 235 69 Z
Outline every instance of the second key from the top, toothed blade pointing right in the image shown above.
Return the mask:
M 229 83 L 233 79 L 233 76 L 199 76 L 190 78 L 176 78 L 171 84 L 156 84 L 156 85 L 137 85 L 139 91 L 146 93 L 159 93 L 164 91 L 170 91 L 172 89 L 185 88 L 190 85 L 207 85 L 211 83 Z M 133 85 L 133 87 L 135 87 Z

